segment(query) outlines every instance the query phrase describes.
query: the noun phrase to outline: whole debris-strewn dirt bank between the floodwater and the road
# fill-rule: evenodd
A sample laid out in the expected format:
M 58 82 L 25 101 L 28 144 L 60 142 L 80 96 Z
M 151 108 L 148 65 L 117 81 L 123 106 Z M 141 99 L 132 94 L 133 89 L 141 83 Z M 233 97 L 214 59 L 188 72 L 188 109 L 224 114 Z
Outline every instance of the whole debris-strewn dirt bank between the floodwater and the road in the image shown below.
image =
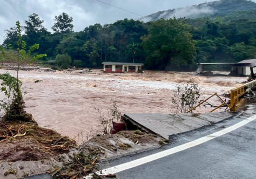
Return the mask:
M 160 147 L 157 135 L 122 131 L 98 135 L 78 146 L 69 137 L 35 123 L 0 122 L 0 178 L 49 173 L 56 178 L 81 178 L 97 171 L 99 160 Z

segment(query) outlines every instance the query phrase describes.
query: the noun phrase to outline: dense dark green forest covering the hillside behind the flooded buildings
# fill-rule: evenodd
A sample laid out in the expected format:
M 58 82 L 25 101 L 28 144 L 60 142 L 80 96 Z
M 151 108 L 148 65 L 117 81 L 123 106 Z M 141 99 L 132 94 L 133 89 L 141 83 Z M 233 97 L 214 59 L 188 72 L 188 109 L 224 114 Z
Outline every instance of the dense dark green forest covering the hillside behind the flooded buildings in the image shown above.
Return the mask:
M 147 69 L 193 70 L 198 62 L 237 62 L 256 56 L 256 10 L 220 17 L 170 18 L 143 23 L 123 19 L 74 32 L 72 17 L 55 17 L 53 33 L 33 13 L 23 27 L 27 47 L 39 44 L 43 60 L 62 67 L 100 67 L 103 61 L 145 63 Z M 6 30 L 4 47 L 17 49 L 17 29 Z

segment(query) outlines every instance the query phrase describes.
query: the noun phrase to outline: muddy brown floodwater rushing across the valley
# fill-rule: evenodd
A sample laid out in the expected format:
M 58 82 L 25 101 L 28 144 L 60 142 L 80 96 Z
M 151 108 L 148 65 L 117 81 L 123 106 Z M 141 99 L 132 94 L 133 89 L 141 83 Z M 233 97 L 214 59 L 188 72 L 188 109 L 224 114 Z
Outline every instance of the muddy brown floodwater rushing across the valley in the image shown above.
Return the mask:
M 4 73 L 5 70 L 0 70 Z M 15 74 L 15 71 L 10 71 Z M 26 111 L 38 124 L 57 132 L 76 136 L 96 129 L 95 108 L 106 111 L 117 101 L 122 113 L 170 113 L 171 97 L 176 85 L 193 78 L 207 98 L 214 92 L 224 93 L 238 86 L 245 77 L 201 77 L 192 72 L 103 73 L 79 71 L 44 72 L 43 69 L 21 71 Z M 35 80 L 43 80 L 35 83 Z M 1 94 L 3 98 L 3 94 Z M 212 101 L 217 102 L 217 100 Z M 199 108 L 197 112 L 210 111 Z

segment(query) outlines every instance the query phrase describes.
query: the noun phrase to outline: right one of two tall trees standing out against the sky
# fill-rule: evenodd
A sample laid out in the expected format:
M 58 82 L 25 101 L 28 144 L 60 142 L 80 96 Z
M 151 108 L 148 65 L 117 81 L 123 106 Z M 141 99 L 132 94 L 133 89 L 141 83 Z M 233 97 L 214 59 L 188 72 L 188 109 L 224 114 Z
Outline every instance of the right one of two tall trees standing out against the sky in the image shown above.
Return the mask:
M 56 23 L 52 26 L 52 30 L 55 32 L 68 33 L 73 31 L 73 18 L 67 13 L 63 12 L 59 16 L 55 16 Z

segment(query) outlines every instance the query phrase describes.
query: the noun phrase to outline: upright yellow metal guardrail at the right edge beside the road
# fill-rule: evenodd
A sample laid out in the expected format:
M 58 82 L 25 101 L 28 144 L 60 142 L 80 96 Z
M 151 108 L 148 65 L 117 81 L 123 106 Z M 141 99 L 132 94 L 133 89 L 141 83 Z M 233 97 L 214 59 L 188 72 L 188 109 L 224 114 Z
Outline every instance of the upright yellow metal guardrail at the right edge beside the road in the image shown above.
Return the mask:
M 252 87 L 256 85 L 256 80 L 247 82 L 246 84 L 233 88 L 230 91 L 230 107 L 235 111 L 235 105 L 239 102 L 239 98 L 248 93 Z

